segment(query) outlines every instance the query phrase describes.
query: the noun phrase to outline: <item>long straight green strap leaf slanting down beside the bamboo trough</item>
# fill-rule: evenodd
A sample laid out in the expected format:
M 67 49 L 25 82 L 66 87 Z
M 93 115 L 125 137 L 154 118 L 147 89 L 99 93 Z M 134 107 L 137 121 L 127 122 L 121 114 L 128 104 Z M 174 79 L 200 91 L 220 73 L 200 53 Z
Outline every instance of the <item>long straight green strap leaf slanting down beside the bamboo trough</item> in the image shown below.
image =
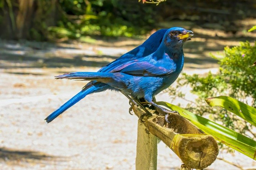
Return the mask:
M 256 156 L 256 141 L 237 133 L 225 126 L 215 123 L 209 119 L 193 114 L 185 109 L 175 106 L 167 102 L 157 102 L 159 105 L 166 106 L 172 110 L 178 111 L 181 116 L 188 119 L 203 132 L 212 135 L 216 140 L 225 145 L 241 152 L 242 154 L 255 159 Z

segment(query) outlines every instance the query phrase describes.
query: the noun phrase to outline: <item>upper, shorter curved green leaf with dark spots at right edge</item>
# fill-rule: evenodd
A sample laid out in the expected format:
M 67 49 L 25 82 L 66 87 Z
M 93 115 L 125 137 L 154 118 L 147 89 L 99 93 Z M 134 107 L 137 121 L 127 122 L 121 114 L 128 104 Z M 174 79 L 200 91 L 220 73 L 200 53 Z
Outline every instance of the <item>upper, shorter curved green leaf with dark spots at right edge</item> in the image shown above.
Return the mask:
M 256 126 L 256 108 L 228 96 L 205 99 L 212 106 L 220 106 Z

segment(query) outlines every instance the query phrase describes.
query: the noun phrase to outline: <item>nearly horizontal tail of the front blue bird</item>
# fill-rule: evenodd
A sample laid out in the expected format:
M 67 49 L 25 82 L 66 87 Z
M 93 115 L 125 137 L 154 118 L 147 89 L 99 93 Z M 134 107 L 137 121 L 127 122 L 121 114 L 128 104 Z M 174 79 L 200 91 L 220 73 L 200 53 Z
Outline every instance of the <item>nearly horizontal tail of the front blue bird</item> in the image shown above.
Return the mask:
M 112 78 L 113 73 L 73 72 L 55 76 L 55 79 L 102 80 Z

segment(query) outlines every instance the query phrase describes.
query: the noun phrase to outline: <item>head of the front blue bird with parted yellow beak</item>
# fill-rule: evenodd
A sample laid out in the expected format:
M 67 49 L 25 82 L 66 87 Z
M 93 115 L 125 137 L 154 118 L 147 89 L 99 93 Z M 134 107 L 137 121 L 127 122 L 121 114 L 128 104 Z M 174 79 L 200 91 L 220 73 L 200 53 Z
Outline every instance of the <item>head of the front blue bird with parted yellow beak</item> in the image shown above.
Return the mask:
M 183 44 L 191 40 L 190 37 L 193 35 L 192 31 L 180 27 L 173 27 L 166 32 L 163 43 L 167 47 L 182 48 Z

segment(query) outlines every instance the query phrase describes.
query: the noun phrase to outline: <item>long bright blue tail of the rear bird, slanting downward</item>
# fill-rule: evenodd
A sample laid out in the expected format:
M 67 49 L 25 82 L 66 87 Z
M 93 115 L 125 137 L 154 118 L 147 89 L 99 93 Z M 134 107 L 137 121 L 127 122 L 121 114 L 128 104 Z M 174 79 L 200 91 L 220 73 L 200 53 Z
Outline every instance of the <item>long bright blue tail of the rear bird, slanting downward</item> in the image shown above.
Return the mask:
M 91 94 L 93 92 L 99 92 L 99 91 L 103 91 L 104 89 L 104 85 L 103 86 L 92 86 L 89 87 L 88 89 L 82 90 L 80 91 L 78 94 L 76 94 L 74 97 L 72 97 L 69 101 L 67 101 L 65 104 L 63 104 L 62 106 L 60 106 L 56 111 L 54 111 L 51 115 L 49 115 L 47 118 L 45 118 L 44 120 L 46 120 L 47 123 L 50 123 L 51 121 L 53 121 L 56 117 L 58 117 L 60 114 L 62 114 L 63 112 L 65 112 L 69 107 L 73 106 L 75 103 L 79 102 L 81 99 L 83 99 L 85 96 L 87 96 L 88 94 Z

